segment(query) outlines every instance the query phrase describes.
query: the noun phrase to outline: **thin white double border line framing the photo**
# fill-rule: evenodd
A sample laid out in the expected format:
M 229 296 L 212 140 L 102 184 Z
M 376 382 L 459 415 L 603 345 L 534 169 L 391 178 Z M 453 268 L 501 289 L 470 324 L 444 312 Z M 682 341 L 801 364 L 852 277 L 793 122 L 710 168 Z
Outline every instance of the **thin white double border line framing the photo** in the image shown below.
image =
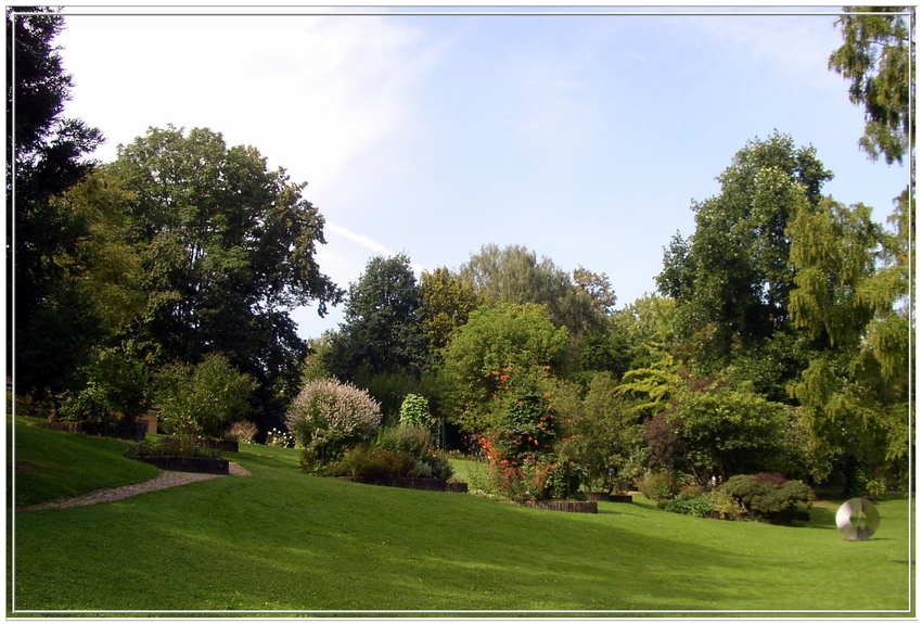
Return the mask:
M 172 7 L 177 7 L 177 5 L 168 5 L 168 8 L 172 8 Z M 359 7 L 357 7 L 357 8 L 359 8 Z M 355 13 L 353 13 L 353 12 L 343 12 L 343 13 L 341 13 L 341 12 L 306 12 L 306 13 L 300 13 L 300 12 L 298 12 L 298 13 L 282 13 L 282 12 L 280 12 L 280 13 L 220 13 L 220 12 L 207 12 L 207 13 L 171 13 L 171 12 L 166 12 L 166 13 L 133 13 L 133 12 L 126 12 L 126 13 L 120 13 L 120 12 L 98 12 L 97 13 L 97 12 L 71 12 L 71 11 L 67 11 L 66 8 L 64 8 L 57 14 L 61 15 L 62 17 L 66 17 L 66 16 L 75 16 L 75 17 L 93 17 L 93 16 L 100 16 L 100 17 L 104 17 L 104 16 L 124 16 L 124 17 L 132 17 L 132 16 L 138 16 L 138 17 L 218 17 L 218 16 L 227 16 L 227 17 L 293 17 L 293 16 L 305 16 L 305 17 L 307 17 L 307 16 L 330 16 L 330 17 L 336 17 L 336 16 L 343 16 L 343 17 L 367 17 L 367 16 L 386 16 L 386 17 L 417 17 L 417 16 L 426 16 L 426 17 L 441 17 L 441 16 L 445 16 L 445 17 L 461 17 L 461 16 L 486 16 L 486 17 L 504 17 L 504 16 L 524 16 L 524 17 L 525 16 L 533 16 L 533 17 L 542 17 L 542 16 L 550 16 L 550 17 L 571 17 L 571 16 L 575 16 L 575 17 L 579 17 L 579 16 L 598 16 L 598 17 L 606 17 L 606 16 L 620 16 L 620 17 L 632 17 L 632 16 L 638 16 L 638 17 L 643 17 L 643 16 L 646 16 L 646 17 L 651 17 L 651 16 L 658 16 L 658 17 L 677 17 L 677 16 L 769 17 L 769 16 L 771 16 L 771 17 L 774 17 L 774 16 L 785 16 L 785 17 L 790 17 L 790 16 L 794 16 L 794 17 L 801 17 L 801 16 L 805 16 L 805 17 L 810 17 L 810 16 L 822 16 L 822 17 L 834 17 L 834 16 L 842 16 L 842 15 L 865 15 L 865 14 L 868 14 L 868 13 L 869 12 L 867 12 L 867 11 L 830 11 L 830 12 L 814 12 L 814 11 L 810 11 L 810 12 L 806 12 L 806 11 L 805 12 L 764 12 L 764 11 L 759 11 L 759 12 L 726 12 L 726 11 L 716 11 L 716 12 L 646 12 L 646 11 L 643 11 L 643 12 L 607 12 L 607 11 L 588 11 L 588 12 L 586 12 L 586 11 L 580 11 L 580 12 L 556 12 L 556 11 L 555 12 L 543 12 L 543 11 L 542 12 L 534 12 L 534 11 L 513 11 L 513 12 L 505 12 L 505 11 L 503 11 L 503 12 L 469 12 L 469 11 L 463 11 L 463 12 L 454 12 L 454 11 L 452 11 L 452 12 L 400 12 L 400 11 L 397 11 L 397 12 L 393 12 L 393 11 L 388 11 L 388 12 L 355 12 Z M 11 17 L 15 17 L 16 15 L 42 15 L 42 14 L 43 13 L 41 13 L 41 12 L 28 12 L 28 11 L 18 12 L 18 11 L 15 11 L 15 9 L 14 9 L 11 12 Z M 911 119 L 912 118 L 911 117 L 911 114 L 912 114 L 912 85 L 914 85 L 914 81 L 912 80 L 912 77 L 913 77 L 912 76 L 912 66 L 913 66 L 912 61 L 913 61 L 913 50 L 914 50 L 913 35 L 914 35 L 914 26 L 915 26 L 915 24 L 914 24 L 914 12 L 912 12 L 912 11 L 894 12 L 894 13 L 891 13 L 891 15 L 901 15 L 901 16 L 908 16 L 909 17 L 910 44 L 909 44 L 909 52 L 908 53 L 909 53 L 910 82 L 909 82 L 908 88 L 910 90 L 909 114 L 910 114 L 910 119 Z M 12 75 L 10 76 L 11 86 L 12 86 L 12 88 L 11 88 L 12 119 L 11 120 L 13 122 L 12 128 L 10 128 L 10 136 L 12 138 L 12 145 L 11 145 L 11 153 L 12 153 L 11 165 L 12 166 L 11 166 L 11 171 L 12 171 L 12 178 L 13 179 L 10 181 L 11 182 L 11 189 L 12 189 L 12 193 L 11 193 L 12 205 L 10 206 L 10 211 L 12 213 L 11 218 L 12 218 L 12 225 L 13 225 L 13 232 L 12 232 L 13 246 L 12 246 L 11 253 L 12 253 L 12 257 L 13 257 L 12 266 L 13 266 L 14 270 L 13 270 L 12 276 L 8 276 L 8 279 L 10 280 L 10 283 L 13 284 L 12 293 L 14 295 L 14 297 L 13 297 L 14 302 L 11 305 L 12 317 L 13 317 L 13 326 L 12 326 L 13 332 L 11 333 L 11 336 L 10 336 L 11 341 L 12 341 L 12 348 L 13 348 L 13 354 L 14 354 L 14 356 L 12 358 L 13 372 L 11 373 L 12 392 L 13 392 L 13 409 L 12 409 L 12 412 L 13 412 L 13 426 L 12 426 L 13 450 L 12 450 L 12 459 L 13 459 L 13 466 L 14 467 L 15 467 L 15 454 L 16 454 L 16 448 L 15 448 L 16 447 L 16 445 L 15 445 L 16 402 L 15 402 L 15 374 L 14 374 L 14 371 L 15 371 L 15 235 L 16 235 L 16 228 L 15 228 L 15 211 L 13 209 L 13 206 L 15 206 L 15 191 L 16 191 L 16 186 L 15 186 L 15 171 L 16 171 L 16 165 L 15 165 L 15 113 L 16 113 L 16 97 L 15 97 L 16 95 L 16 89 L 15 89 L 15 58 L 16 58 L 15 52 L 16 52 L 16 46 L 15 46 L 15 40 L 16 39 L 15 39 L 15 34 L 16 34 L 16 27 L 15 26 L 16 26 L 16 23 L 15 23 L 15 20 L 13 18 L 12 20 L 13 44 L 11 46 L 11 50 L 12 50 L 12 54 L 11 54 Z M 913 152 L 912 152 L 912 144 L 911 144 L 911 139 L 912 139 L 911 132 L 909 135 L 910 135 L 910 140 L 908 141 L 908 143 L 909 143 L 908 149 L 909 149 L 911 162 L 910 162 L 910 166 L 909 166 L 909 176 L 910 176 L 909 189 L 910 189 L 910 192 L 909 192 L 908 211 L 909 211 L 910 224 L 912 224 L 912 222 L 914 222 L 913 213 L 912 213 L 912 209 L 913 209 L 912 190 L 914 188 L 913 184 L 912 184 L 912 169 L 913 169 L 913 166 L 914 166 L 914 157 L 912 155 Z M 910 233 L 908 234 L 909 239 L 910 239 L 910 244 L 908 246 L 908 250 L 909 250 L 908 265 L 909 265 L 909 300 L 910 300 L 909 344 L 910 344 L 910 368 L 911 368 L 911 361 L 912 361 L 911 360 L 911 348 L 912 348 L 912 335 L 913 335 L 913 332 L 912 332 L 912 329 L 913 329 L 912 328 L 912 314 L 911 313 L 914 309 L 914 305 L 913 305 L 913 301 L 912 301 L 913 288 L 912 288 L 911 228 L 908 228 L 908 229 L 910 231 Z M 911 432 L 911 425 L 912 425 L 912 375 L 910 374 L 910 383 L 909 383 L 909 426 L 910 426 L 910 432 Z M 42 611 L 42 610 L 38 610 L 37 611 L 37 610 L 16 610 L 16 608 L 15 608 L 15 599 L 16 599 L 16 596 L 15 596 L 16 595 L 16 584 L 15 584 L 15 574 L 16 574 L 16 566 L 15 566 L 15 538 L 16 538 L 16 535 L 15 535 L 15 522 L 16 522 L 16 520 L 15 520 L 16 519 L 15 488 L 16 488 L 16 474 L 15 474 L 15 472 L 16 471 L 13 470 L 13 477 L 12 477 L 13 512 L 11 514 L 11 517 L 12 517 L 11 613 L 12 614 L 16 614 L 16 613 L 24 613 L 24 614 L 26 614 L 26 613 L 27 614 L 40 614 L 40 613 L 79 613 L 79 614 L 86 614 L 86 613 L 161 613 L 161 614 L 182 614 L 182 613 L 195 613 L 195 614 L 204 614 L 204 613 L 228 613 L 228 614 L 262 614 L 262 613 L 279 613 L 279 614 L 353 614 L 353 613 L 356 613 L 356 614 L 359 614 L 359 613 L 375 613 L 375 614 L 400 614 L 400 613 L 419 613 L 419 614 L 422 614 L 422 613 L 428 613 L 428 614 L 471 614 L 471 613 L 479 613 L 479 614 L 495 614 L 495 613 L 503 613 L 503 614 L 515 614 L 515 613 L 521 613 L 521 614 L 539 614 L 539 613 L 543 613 L 543 614 L 561 614 L 561 613 L 574 613 L 574 614 L 591 614 L 591 613 L 598 613 L 598 614 L 606 614 L 606 613 L 618 613 L 618 614 L 629 614 L 629 613 L 644 613 L 644 614 L 649 614 L 649 613 L 728 613 L 728 614 L 732 614 L 732 613 L 779 613 L 779 614 L 781 614 L 781 613 L 815 613 L 815 614 L 819 614 L 819 613 L 911 613 L 912 612 L 912 594 L 913 594 L 912 593 L 912 589 L 913 589 L 913 586 L 912 586 L 912 565 L 913 565 L 913 557 L 912 557 L 912 555 L 913 555 L 913 551 L 912 551 L 912 515 L 913 515 L 913 513 L 912 513 L 912 464 L 913 464 L 912 441 L 911 441 L 911 436 L 910 436 L 910 441 L 909 441 L 909 495 L 908 495 L 908 511 L 909 511 L 909 566 L 908 566 L 909 568 L 909 571 L 908 571 L 908 574 L 909 574 L 909 601 L 908 602 L 909 602 L 909 607 L 906 610 L 855 610 L 855 611 L 848 611 L 848 610 L 807 610 L 807 611 L 796 611 L 796 610 L 782 610 L 782 611 L 761 611 L 761 610 L 738 610 L 738 611 L 727 611 L 727 610 L 695 610 L 695 611 L 675 611 L 675 610 L 638 610 L 638 611 L 632 611 L 632 610 L 612 610 L 612 611 L 593 611 L 593 610 L 560 610 L 560 611 L 543 611 L 543 610 L 537 610 L 537 611 L 526 611 L 526 610 L 509 610 L 509 611 L 504 611 L 504 610 L 500 610 L 500 611 L 479 611 L 479 610 L 469 610 L 469 611 L 465 611 L 465 610 L 449 610 L 449 611 L 441 611 L 441 610 L 436 610 L 436 611 L 425 611 L 425 610 L 406 610 L 406 611 L 401 611 L 401 610 L 368 610 L 368 611 L 337 611 L 337 610 L 316 610 L 316 611 L 311 611 L 311 610 L 307 610 L 307 611 L 80 610 L 80 611 L 67 611 L 67 610 L 46 610 L 46 611 Z

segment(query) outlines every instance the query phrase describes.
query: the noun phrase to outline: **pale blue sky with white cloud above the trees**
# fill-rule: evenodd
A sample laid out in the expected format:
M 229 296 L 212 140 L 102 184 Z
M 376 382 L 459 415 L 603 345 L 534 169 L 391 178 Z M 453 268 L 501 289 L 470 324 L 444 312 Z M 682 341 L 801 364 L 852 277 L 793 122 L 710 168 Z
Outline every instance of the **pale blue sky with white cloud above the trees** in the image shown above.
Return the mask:
M 256 147 L 308 183 L 344 289 L 375 254 L 419 277 L 515 244 L 606 273 L 623 307 L 750 140 L 816 148 L 824 192 L 880 221 L 909 177 L 858 149 L 863 112 L 828 69 L 836 8 L 139 11 L 64 11 L 65 114 L 107 138 L 92 157 L 167 124 Z M 292 318 L 315 338 L 342 309 Z

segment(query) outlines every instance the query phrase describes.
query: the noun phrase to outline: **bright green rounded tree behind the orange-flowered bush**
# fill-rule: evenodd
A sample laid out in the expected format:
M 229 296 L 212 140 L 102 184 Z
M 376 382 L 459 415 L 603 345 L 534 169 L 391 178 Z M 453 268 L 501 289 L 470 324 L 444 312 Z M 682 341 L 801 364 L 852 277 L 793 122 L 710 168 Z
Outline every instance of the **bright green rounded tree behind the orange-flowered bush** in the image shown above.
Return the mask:
M 503 390 L 497 371 L 552 367 L 566 342 L 566 329 L 555 328 L 542 305 L 500 303 L 471 313 L 446 347 L 439 373 L 451 420 L 470 433 L 487 431 L 495 424 L 494 395 Z

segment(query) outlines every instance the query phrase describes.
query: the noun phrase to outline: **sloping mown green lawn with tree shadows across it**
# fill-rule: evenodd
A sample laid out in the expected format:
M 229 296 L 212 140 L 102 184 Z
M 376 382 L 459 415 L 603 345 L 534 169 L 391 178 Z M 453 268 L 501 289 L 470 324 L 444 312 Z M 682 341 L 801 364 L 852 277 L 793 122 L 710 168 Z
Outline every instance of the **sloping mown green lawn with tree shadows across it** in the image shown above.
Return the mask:
M 17 445 L 34 431 L 17 428 Z M 906 499 L 881 502 L 873 539 L 848 543 L 834 505 L 795 527 L 693 519 L 637 498 L 562 513 L 309 476 L 294 449 L 227 457 L 253 474 L 17 511 L 15 612 L 909 614 Z

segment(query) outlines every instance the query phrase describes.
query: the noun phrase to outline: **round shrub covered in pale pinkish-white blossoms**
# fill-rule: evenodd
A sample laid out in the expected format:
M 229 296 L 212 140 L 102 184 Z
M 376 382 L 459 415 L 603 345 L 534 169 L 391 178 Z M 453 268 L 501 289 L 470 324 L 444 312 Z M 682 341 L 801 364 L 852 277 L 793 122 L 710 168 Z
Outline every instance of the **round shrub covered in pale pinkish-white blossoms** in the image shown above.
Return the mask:
M 350 383 L 318 379 L 304 384 L 285 420 L 304 449 L 302 467 L 316 470 L 373 436 L 381 424 L 381 405 Z

